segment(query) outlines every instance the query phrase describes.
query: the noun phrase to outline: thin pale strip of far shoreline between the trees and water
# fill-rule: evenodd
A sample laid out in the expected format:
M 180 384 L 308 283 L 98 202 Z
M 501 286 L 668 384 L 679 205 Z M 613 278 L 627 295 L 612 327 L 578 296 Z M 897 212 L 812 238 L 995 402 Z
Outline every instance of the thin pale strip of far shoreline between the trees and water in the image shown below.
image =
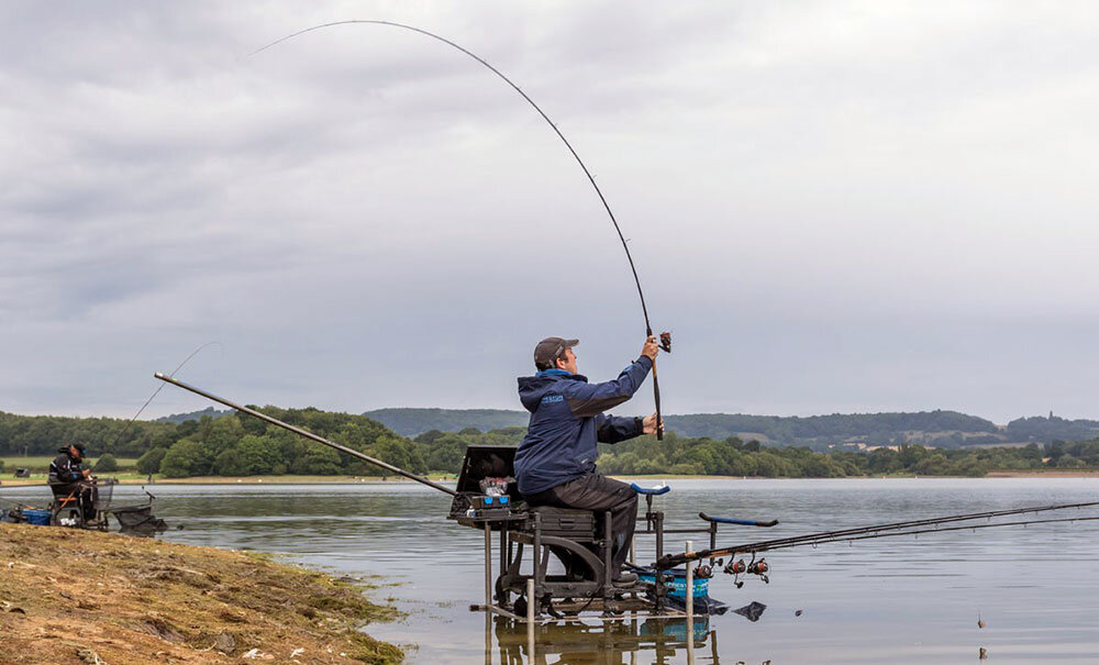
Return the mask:
M 454 481 L 453 475 L 426 476 L 436 483 Z M 865 480 L 865 479 L 904 479 L 904 478 L 1099 478 L 1099 469 L 1050 469 L 1050 470 L 995 470 L 985 476 L 921 476 L 918 474 L 888 475 L 888 476 L 844 476 L 842 478 L 811 478 L 811 477 L 787 477 L 787 476 L 677 476 L 673 474 L 647 474 L 643 476 L 612 475 L 611 477 L 623 481 L 631 480 Z M 412 483 L 400 476 L 389 476 L 382 479 L 379 476 L 195 476 L 191 478 L 154 478 L 148 483 L 146 478 L 120 478 L 119 485 L 380 485 L 389 483 Z M 45 478 L 3 478 L 0 490 L 8 487 L 35 487 L 44 486 Z

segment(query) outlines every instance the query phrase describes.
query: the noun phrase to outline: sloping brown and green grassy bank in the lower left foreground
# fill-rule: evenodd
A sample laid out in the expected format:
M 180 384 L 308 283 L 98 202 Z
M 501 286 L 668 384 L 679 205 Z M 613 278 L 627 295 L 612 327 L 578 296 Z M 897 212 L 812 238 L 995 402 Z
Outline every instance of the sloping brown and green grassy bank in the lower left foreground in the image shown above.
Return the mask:
M 362 591 L 255 554 L 0 523 L 0 663 L 400 662 L 357 630 L 396 616 Z

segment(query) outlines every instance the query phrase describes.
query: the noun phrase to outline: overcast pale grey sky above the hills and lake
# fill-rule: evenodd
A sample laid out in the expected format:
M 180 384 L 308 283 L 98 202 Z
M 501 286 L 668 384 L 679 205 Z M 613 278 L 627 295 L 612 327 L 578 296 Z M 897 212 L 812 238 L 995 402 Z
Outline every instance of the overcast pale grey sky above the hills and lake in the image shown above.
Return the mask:
M 0 410 L 1099 418 L 1094 2 L 0 4 Z M 147 415 L 208 402 L 166 388 Z M 620 412 L 652 410 L 646 385 Z

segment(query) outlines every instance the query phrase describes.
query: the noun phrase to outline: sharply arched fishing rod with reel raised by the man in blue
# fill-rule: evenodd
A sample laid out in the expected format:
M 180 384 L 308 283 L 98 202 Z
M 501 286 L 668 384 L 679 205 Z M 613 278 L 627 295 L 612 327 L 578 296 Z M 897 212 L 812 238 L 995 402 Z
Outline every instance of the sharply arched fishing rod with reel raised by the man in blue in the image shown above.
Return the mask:
M 297 37 L 299 35 L 303 35 L 303 34 L 306 34 L 308 32 L 313 32 L 313 31 L 317 31 L 317 30 L 323 30 L 325 27 L 333 27 L 333 26 L 336 26 L 336 25 L 352 25 L 352 24 L 386 25 L 386 26 L 389 26 L 389 27 L 400 27 L 402 30 L 408 30 L 408 31 L 411 31 L 411 32 L 415 32 L 415 33 L 422 34 L 424 36 L 428 36 L 428 37 L 431 37 L 431 38 L 436 40 L 439 42 L 442 42 L 443 44 L 446 44 L 447 46 L 456 48 L 457 51 L 460 51 L 462 53 L 466 54 L 467 56 L 471 57 L 473 59 L 477 60 L 478 63 L 480 63 L 481 65 L 484 65 L 485 67 L 487 67 L 492 74 L 495 74 L 498 77 L 500 77 L 501 79 L 503 79 L 503 81 L 506 84 L 508 84 L 509 86 L 511 86 L 511 88 L 515 92 L 518 92 L 523 99 L 526 100 L 526 102 L 529 104 L 531 104 L 531 107 L 534 108 L 535 111 L 539 112 L 539 115 L 541 115 L 542 119 L 545 120 L 546 123 L 550 125 L 550 128 L 553 129 L 554 133 L 557 134 L 557 137 L 560 138 L 562 143 L 565 144 L 565 147 L 568 148 L 568 152 L 573 155 L 573 158 L 576 159 L 576 163 L 580 166 L 580 169 L 584 170 L 584 175 L 587 176 L 588 182 L 591 184 L 591 187 L 596 190 L 596 195 L 599 197 L 599 201 L 603 204 L 603 210 L 607 211 L 607 215 L 610 217 L 611 223 L 614 224 L 614 232 L 618 233 L 619 241 L 621 241 L 621 243 L 622 243 L 622 250 L 625 251 L 625 258 L 630 263 L 630 271 L 633 274 L 633 282 L 637 286 L 637 297 L 641 299 L 641 312 L 642 312 L 642 314 L 645 318 L 645 336 L 646 337 L 652 337 L 653 336 L 653 325 L 652 325 L 652 323 L 650 323 L 650 320 L 648 320 L 648 308 L 645 306 L 645 293 L 641 289 L 641 278 L 637 277 L 637 267 L 633 263 L 633 255 L 630 254 L 630 246 L 629 246 L 629 244 L 626 242 L 625 236 L 622 234 L 622 229 L 621 229 L 621 226 L 619 226 L 618 220 L 614 218 L 614 212 L 611 210 L 610 203 L 607 202 L 607 197 L 604 197 L 602 190 L 599 189 L 599 185 L 596 184 L 595 176 L 592 176 L 591 171 L 588 170 L 588 166 L 584 163 L 584 159 L 580 159 L 580 155 L 576 152 L 576 148 L 573 147 L 573 144 L 568 142 L 568 138 L 565 137 L 565 134 L 562 133 L 560 129 L 557 128 L 557 124 L 554 123 L 554 121 L 550 120 L 550 117 L 546 114 L 546 112 L 542 110 L 542 107 L 540 107 L 539 104 L 536 104 L 534 102 L 534 100 L 531 99 L 531 97 L 529 95 L 526 95 L 526 92 L 523 91 L 522 88 L 520 88 L 510 78 L 508 78 L 507 76 L 504 76 L 502 71 L 500 71 L 499 69 L 497 69 L 492 65 L 488 64 L 488 62 L 485 58 L 480 57 L 479 55 L 475 54 L 474 52 L 469 51 L 468 48 L 466 48 L 464 46 L 460 46 L 460 45 L 452 42 L 451 40 L 447 40 L 446 37 L 443 37 L 443 36 L 440 36 L 437 34 L 433 33 L 433 32 L 429 32 L 426 30 L 423 30 L 422 27 L 415 27 L 414 25 L 407 25 L 404 23 L 397 23 L 397 22 L 393 22 L 393 21 L 373 21 L 373 20 L 365 20 L 365 19 L 349 20 L 349 21 L 335 21 L 335 22 L 332 22 L 332 23 L 322 23 L 321 25 L 313 25 L 312 27 L 307 27 L 304 30 L 299 30 L 298 32 L 295 32 L 292 34 L 288 34 L 285 37 L 280 37 L 278 40 L 275 40 L 274 42 L 271 42 L 270 44 L 267 44 L 266 46 L 263 46 L 260 48 L 257 48 L 257 49 L 253 51 L 249 55 L 256 55 L 258 53 L 267 51 L 268 48 L 270 48 L 273 46 L 277 46 L 278 44 L 281 44 L 282 42 L 286 42 L 288 40 L 292 40 L 293 37 Z M 659 343 L 660 343 L 660 348 L 663 348 L 665 351 L 665 353 L 671 353 L 671 334 L 670 333 L 667 333 L 667 332 L 660 333 L 660 335 L 659 335 Z M 654 403 L 656 406 L 656 439 L 658 441 L 663 441 L 664 440 L 664 425 L 662 424 L 663 420 L 660 418 L 660 384 L 659 384 L 659 381 L 656 378 L 656 361 L 653 361 L 653 401 L 654 401 Z

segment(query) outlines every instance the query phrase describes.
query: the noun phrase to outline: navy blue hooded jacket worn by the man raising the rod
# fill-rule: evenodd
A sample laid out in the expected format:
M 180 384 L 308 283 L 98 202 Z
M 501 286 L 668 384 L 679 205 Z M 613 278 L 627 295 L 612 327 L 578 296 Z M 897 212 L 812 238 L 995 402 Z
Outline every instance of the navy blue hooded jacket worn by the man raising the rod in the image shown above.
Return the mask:
M 519 397 L 531 412 L 515 451 L 519 491 L 536 495 L 596 470 L 596 442 L 618 443 L 641 434 L 640 419 L 603 415 L 641 387 L 653 362 L 641 356 L 613 381 L 545 369 L 519 378 Z

